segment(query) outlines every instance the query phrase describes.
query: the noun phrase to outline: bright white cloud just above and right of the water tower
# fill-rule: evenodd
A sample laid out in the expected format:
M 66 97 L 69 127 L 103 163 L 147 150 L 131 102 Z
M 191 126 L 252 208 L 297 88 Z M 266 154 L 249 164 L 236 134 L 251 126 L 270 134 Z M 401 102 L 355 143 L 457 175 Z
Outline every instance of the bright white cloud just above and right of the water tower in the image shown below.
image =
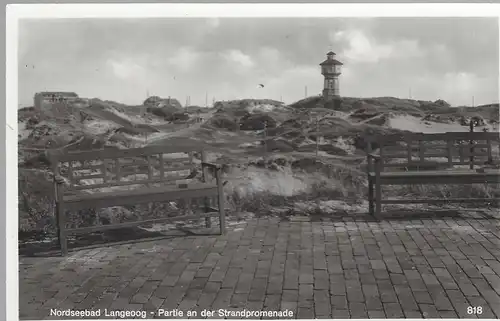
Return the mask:
M 330 40 L 347 43 L 342 55 L 353 62 L 377 63 L 385 59 L 414 58 L 424 54 L 412 39 L 380 43 L 361 30 L 341 30 L 330 34 Z

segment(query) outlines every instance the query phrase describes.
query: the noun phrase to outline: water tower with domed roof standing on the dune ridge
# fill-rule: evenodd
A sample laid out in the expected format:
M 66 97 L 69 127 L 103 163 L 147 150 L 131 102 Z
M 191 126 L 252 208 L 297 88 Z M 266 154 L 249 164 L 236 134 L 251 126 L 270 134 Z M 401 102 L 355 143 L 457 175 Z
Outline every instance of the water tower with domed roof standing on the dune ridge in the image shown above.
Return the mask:
M 340 107 L 340 90 L 339 76 L 342 73 L 341 68 L 343 63 L 335 59 L 335 53 L 330 51 L 326 54 L 326 60 L 319 64 L 321 66 L 321 74 L 325 77 L 323 86 L 323 98 L 325 107 Z

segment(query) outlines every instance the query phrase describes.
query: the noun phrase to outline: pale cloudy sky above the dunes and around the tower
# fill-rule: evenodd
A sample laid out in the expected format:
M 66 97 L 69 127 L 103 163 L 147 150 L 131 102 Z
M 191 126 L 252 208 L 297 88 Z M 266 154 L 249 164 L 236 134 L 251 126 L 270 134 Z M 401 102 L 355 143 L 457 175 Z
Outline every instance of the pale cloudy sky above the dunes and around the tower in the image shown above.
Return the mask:
M 146 95 L 205 105 L 286 103 L 321 92 L 329 50 L 350 97 L 498 102 L 496 18 L 43 19 L 19 23 L 19 103 L 75 91 L 126 104 Z M 259 88 L 258 84 L 264 84 Z

